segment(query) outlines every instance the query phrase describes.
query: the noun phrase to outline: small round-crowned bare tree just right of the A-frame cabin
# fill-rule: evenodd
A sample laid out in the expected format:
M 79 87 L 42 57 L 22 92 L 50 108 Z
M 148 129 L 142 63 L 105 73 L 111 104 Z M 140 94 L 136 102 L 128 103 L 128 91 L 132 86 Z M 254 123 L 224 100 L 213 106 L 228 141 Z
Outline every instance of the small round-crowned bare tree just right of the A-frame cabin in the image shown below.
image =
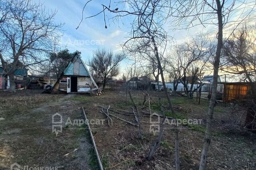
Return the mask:
M 88 65 L 95 71 L 97 76 L 103 78 L 102 90 L 105 89 L 108 80 L 119 74 L 119 65 L 124 58 L 124 54 L 114 54 L 107 49 L 97 49 L 93 52 L 92 59 L 89 60 Z

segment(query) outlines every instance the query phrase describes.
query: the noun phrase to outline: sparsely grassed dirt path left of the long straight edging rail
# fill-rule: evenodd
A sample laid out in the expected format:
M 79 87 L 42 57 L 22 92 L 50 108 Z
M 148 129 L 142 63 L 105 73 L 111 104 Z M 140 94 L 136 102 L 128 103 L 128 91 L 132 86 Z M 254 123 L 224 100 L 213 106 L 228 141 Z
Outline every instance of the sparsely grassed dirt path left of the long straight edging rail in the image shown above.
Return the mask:
M 95 168 L 87 129 L 84 125 L 74 125 L 82 117 L 78 102 L 72 100 L 72 97 L 38 94 L 23 96 L 22 102 L 16 98 L 10 98 L 8 102 L 0 100 L 0 170 L 10 169 L 14 163 L 21 166 L 21 169 Z M 56 113 L 62 116 L 62 123 L 52 123 L 52 116 Z M 60 121 L 59 115 L 54 118 L 55 122 Z M 68 119 L 72 124 L 65 125 Z M 55 127 L 57 130 L 62 127 L 58 136 L 52 133 L 53 124 L 58 125 Z

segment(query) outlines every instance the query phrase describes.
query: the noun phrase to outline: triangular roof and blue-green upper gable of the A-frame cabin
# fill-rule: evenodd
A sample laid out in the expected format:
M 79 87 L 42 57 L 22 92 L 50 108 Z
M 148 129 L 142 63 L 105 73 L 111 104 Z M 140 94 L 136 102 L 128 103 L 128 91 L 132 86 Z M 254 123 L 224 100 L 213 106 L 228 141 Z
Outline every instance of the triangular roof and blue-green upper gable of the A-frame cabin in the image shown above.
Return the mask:
M 77 57 L 77 58 L 76 58 Z M 74 74 L 74 72 L 72 72 L 72 70 L 70 70 L 70 68 L 74 68 L 74 61 L 76 61 L 77 59 L 79 59 L 82 63 L 80 64 L 80 66 L 82 66 L 81 69 L 78 70 L 78 74 Z M 80 67 L 79 67 L 80 68 Z M 86 71 L 86 72 L 84 72 Z M 80 73 L 81 72 L 81 73 Z M 86 64 L 84 63 L 84 61 L 82 60 L 82 58 L 78 55 L 78 53 L 74 54 L 74 57 L 72 58 L 72 60 L 67 64 L 67 66 L 65 67 L 64 71 L 62 72 L 62 74 L 60 74 L 60 76 L 58 77 L 57 81 L 55 82 L 54 86 L 56 86 L 57 82 L 60 80 L 60 78 L 63 75 L 75 75 L 75 76 L 90 76 L 90 79 L 92 80 L 92 83 L 94 84 L 94 86 L 96 86 L 96 88 L 98 88 L 96 82 L 93 80 L 92 75 L 90 74 L 88 68 L 86 67 Z M 54 89 L 54 86 L 52 88 L 52 90 Z

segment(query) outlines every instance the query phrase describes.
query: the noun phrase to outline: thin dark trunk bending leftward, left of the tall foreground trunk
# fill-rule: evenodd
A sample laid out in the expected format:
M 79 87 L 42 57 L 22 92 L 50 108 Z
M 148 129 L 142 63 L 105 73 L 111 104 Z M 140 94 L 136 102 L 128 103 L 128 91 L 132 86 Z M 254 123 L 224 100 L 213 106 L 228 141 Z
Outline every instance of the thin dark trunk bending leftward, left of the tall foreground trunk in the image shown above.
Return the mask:
M 166 85 L 165 85 L 164 73 L 163 73 L 162 65 L 161 65 L 161 62 L 160 62 L 159 54 L 158 54 L 158 47 L 156 46 L 156 41 L 155 41 L 153 36 L 151 37 L 151 39 L 152 39 L 152 42 L 153 42 L 153 45 L 154 45 L 154 49 L 155 49 L 155 53 L 156 53 L 156 60 L 157 60 L 158 68 L 159 68 L 160 75 L 161 75 L 161 78 L 162 78 L 162 83 L 163 83 L 163 86 L 164 86 L 164 92 L 165 92 L 166 98 L 168 100 L 169 107 L 170 107 L 170 109 L 172 111 L 173 117 L 174 117 L 174 119 L 176 119 L 176 112 L 174 111 L 174 108 L 172 106 L 172 102 L 170 100 L 170 96 L 168 94 L 168 91 L 167 91 L 167 88 L 166 88 Z M 176 167 L 176 170 L 180 170 L 180 152 L 179 152 L 179 138 L 178 138 L 178 124 L 177 123 L 178 123 L 178 121 L 176 121 L 176 124 L 174 125 L 174 133 L 175 133 L 175 167 Z

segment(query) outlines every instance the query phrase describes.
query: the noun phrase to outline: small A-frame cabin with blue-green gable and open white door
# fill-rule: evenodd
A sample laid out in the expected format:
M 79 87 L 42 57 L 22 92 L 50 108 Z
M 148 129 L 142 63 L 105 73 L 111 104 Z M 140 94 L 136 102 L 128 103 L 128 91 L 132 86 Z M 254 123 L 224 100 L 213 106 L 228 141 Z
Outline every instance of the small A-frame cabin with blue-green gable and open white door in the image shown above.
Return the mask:
M 52 88 L 52 93 L 90 93 L 98 89 L 84 61 L 76 53 Z

